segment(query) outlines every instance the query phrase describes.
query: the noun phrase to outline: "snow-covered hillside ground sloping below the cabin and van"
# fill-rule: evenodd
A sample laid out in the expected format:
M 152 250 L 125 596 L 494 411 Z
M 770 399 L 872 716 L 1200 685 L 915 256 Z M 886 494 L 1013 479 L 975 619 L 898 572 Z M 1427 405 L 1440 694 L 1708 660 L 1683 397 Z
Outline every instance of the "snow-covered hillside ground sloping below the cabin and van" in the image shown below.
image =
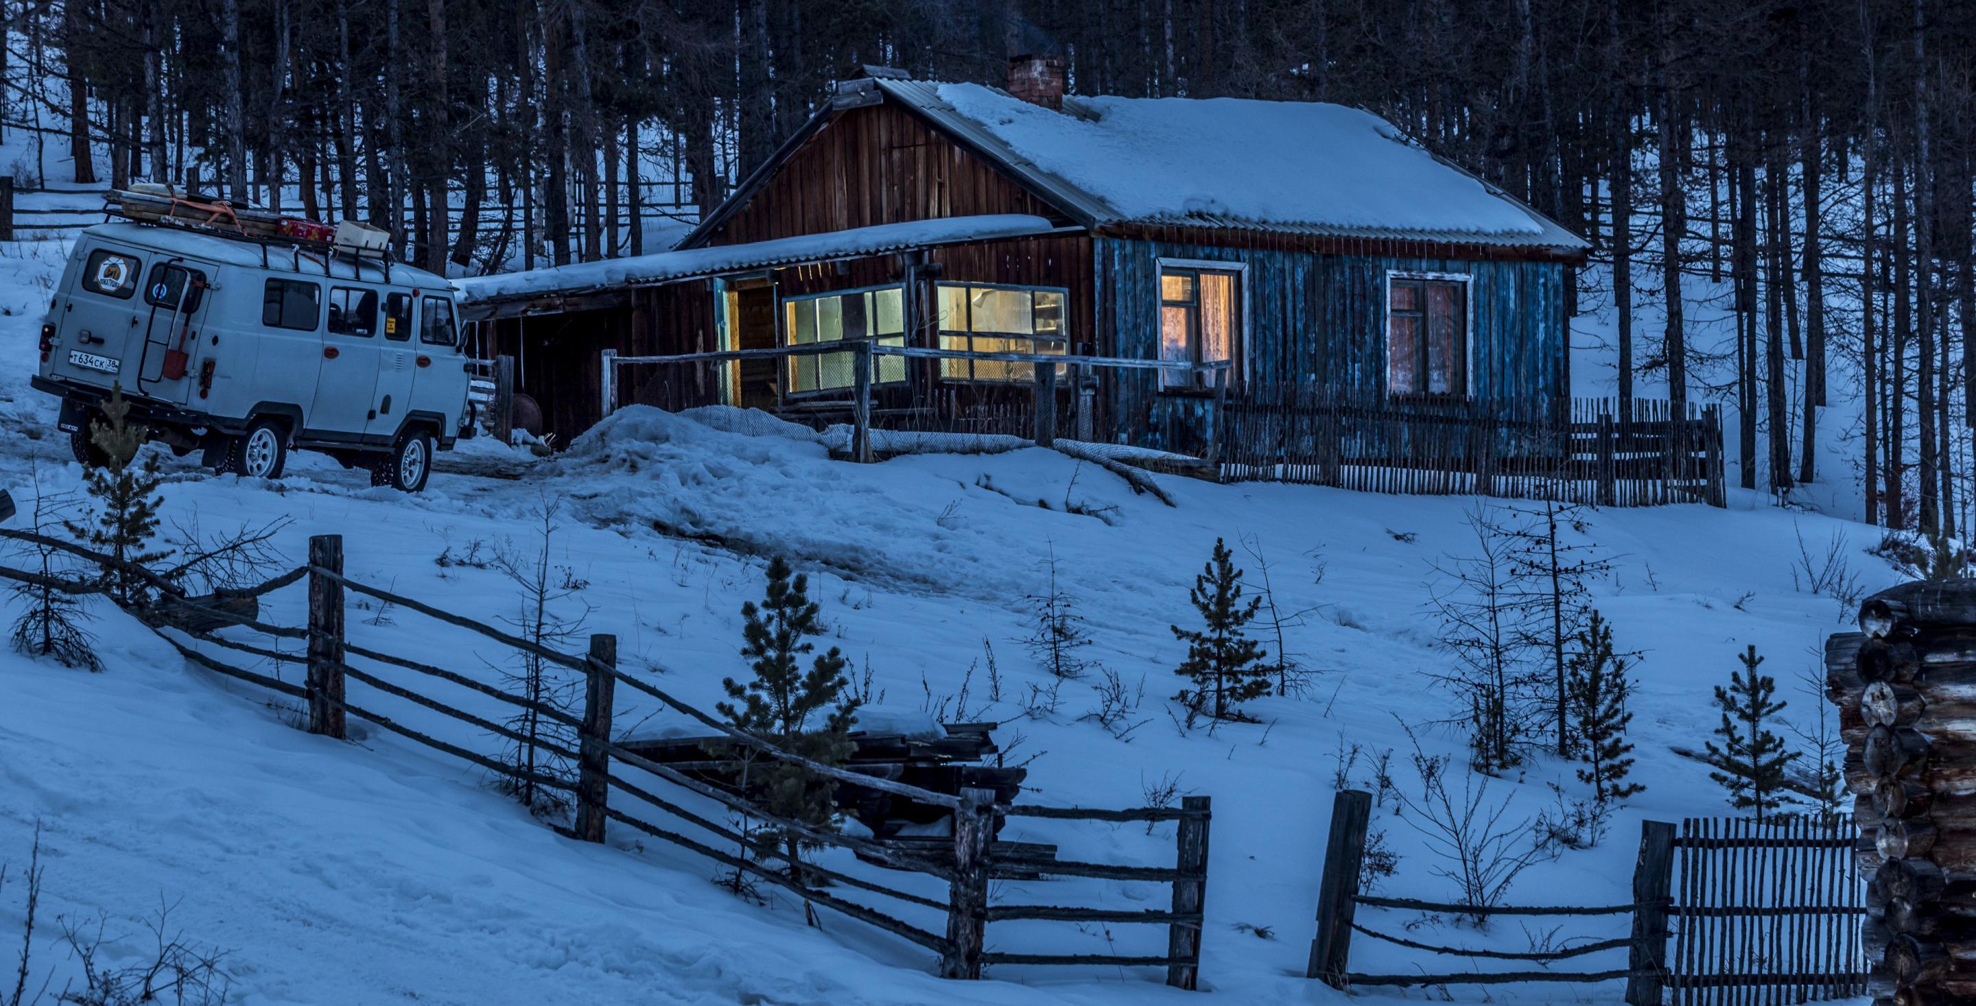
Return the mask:
M 49 492 L 81 478 L 53 433 L 53 401 L 28 387 L 59 261 L 53 243 L 0 245 L 0 425 L 10 433 L 0 486 L 24 504 L 36 480 Z M 733 419 L 715 429 L 626 409 L 553 461 L 510 462 L 522 478 L 441 472 L 413 498 L 370 488 L 360 472 L 316 457 L 296 457 L 281 482 L 215 478 L 168 461 L 166 520 L 196 518 L 211 532 L 288 518 L 279 547 L 290 563 L 302 561 L 308 536 L 342 534 L 352 577 L 502 619 L 520 609 L 514 583 L 456 559 L 537 547 L 539 512 L 553 506 L 551 563 L 585 581 L 565 613 L 583 613 L 585 630 L 615 632 L 620 666 L 705 706 L 723 676 L 743 672 L 741 603 L 761 595 L 765 559 L 786 555 L 810 573 L 830 642 L 860 678 L 869 672 L 873 704 L 911 713 L 945 702 L 950 719 L 1006 721 L 998 729 L 1006 757 L 1033 757 L 1029 800 L 1136 806 L 1162 781 L 1213 796 L 1203 988 L 1243 1004 L 1342 1002 L 1302 978 L 1340 757 L 1361 751 L 1348 775 L 1363 785 L 1367 759 L 1395 749 L 1397 781 L 1413 787 L 1403 723 L 1425 751 L 1460 757 L 1460 739 L 1431 725 L 1452 715 L 1454 702 L 1427 680 L 1448 656 L 1433 646 L 1425 583 L 1433 563 L 1472 547 L 1466 510 L 1500 502 L 1160 476 L 1176 502 L 1168 508 L 1057 453 L 913 455 L 856 466 L 830 461 L 806 433 Z M 1261 723 L 1184 733 L 1168 702 L 1182 684 L 1172 668 L 1184 644 L 1168 627 L 1192 623 L 1188 587 L 1215 538 L 1261 547 L 1278 605 L 1310 611 L 1288 648 L 1318 676 L 1302 698 L 1253 702 Z M 1838 538 L 1861 587 L 1899 579 L 1865 553 L 1879 542 L 1875 528 L 1778 510 L 1761 494 L 1731 492 L 1727 510 L 1591 512 L 1585 538 L 1616 563 L 1597 583 L 1597 603 L 1620 648 L 1642 654 L 1632 739 L 1636 779 L 1648 789 L 1599 848 L 1531 868 L 1512 901 L 1628 901 L 1642 820 L 1729 810 L 1707 771 L 1670 747 L 1707 737 L 1709 688 L 1727 680 L 1745 644 L 1769 658 L 1788 715 L 1814 725 L 1820 698 L 1804 678 L 1824 636 L 1844 627 L 1838 601 L 1794 583 L 1800 540 L 1816 557 Z M 1136 713 L 1144 723 L 1126 739 L 1087 719 L 1097 676 L 1059 686 L 1018 642 L 1051 557 L 1059 587 L 1091 623 L 1087 654 L 1132 692 L 1144 682 Z M 1237 559 L 1259 573 L 1241 549 Z M 1150 968 L 1002 966 L 984 982 L 941 982 L 913 945 L 828 911 L 822 929 L 810 929 L 786 897 L 737 899 L 709 881 L 711 864 L 628 828 L 615 828 L 607 846 L 559 838 L 492 793 L 484 773 L 401 737 L 358 729 L 352 743 L 334 743 L 302 733 L 287 700 L 192 668 L 123 615 L 91 611 L 103 674 L 0 652 L 0 862 L 18 872 L 40 826 L 47 870 L 36 980 L 51 970 L 59 986 L 75 966 L 53 939 L 57 915 L 107 913 L 109 931 L 124 937 L 111 953 L 134 957 L 148 939 L 142 921 L 162 901 L 172 905 L 172 929 L 227 951 L 233 1000 L 243 1004 L 1194 1002 Z M 263 611 L 298 625 L 304 601 L 288 589 Z M 490 680 L 506 660 L 484 640 L 407 611 L 352 607 L 350 634 Z M 283 674 L 292 680 L 298 670 Z M 1035 696 L 1053 688 L 1053 700 Z M 622 729 L 662 729 L 678 715 L 624 692 Z M 358 684 L 352 700 L 451 729 Z M 1053 710 L 1039 708 L 1051 702 Z M 496 747 L 464 727 L 453 737 Z M 1573 765 L 1539 757 L 1492 783 L 1492 795 L 1510 796 L 1512 816 L 1525 818 L 1553 806 L 1553 783 L 1585 793 Z M 1409 820 L 1387 808 L 1375 828 L 1399 854 L 1383 893 L 1454 897 Z M 1138 864 L 1168 862 L 1174 842 L 1172 826 L 1146 834 L 1035 820 L 1012 822 L 1004 838 L 1053 842 L 1075 860 Z M 925 878 L 887 880 L 933 893 L 915 885 Z M 0 889 L 0 945 L 18 933 L 20 893 L 18 880 Z M 994 897 L 1164 907 L 1166 889 L 1006 881 Z M 887 909 L 939 929 L 931 913 Z M 1407 921 L 1385 911 L 1361 919 L 1387 931 Z M 1561 935 L 1608 939 L 1622 927 L 1583 923 Z M 1000 951 L 1164 951 L 1164 929 L 1152 927 L 994 923 L 988 935 Z M 1409 935 L 1512 951 L 1539 937 L 1514 921 L 1488 933 L 1437 921 Z M 1571 964 L 1616 968 L 1622 957 Z M 1421 964 L 1464 966 L 1369 941 L 1354 949 L 1361 970 Z M 1450 992 L 1612 1002 L 1618 984 Z

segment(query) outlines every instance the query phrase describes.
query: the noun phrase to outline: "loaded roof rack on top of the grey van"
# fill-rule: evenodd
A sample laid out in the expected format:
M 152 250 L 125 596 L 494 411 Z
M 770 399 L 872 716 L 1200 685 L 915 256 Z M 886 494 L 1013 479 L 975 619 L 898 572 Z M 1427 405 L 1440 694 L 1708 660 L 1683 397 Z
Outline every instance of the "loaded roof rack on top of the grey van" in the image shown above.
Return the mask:
M 285 217 L 257 208 L 235 208 L 227 200 L 188 194 L 178 186 L 138 182 L 128 190 L 111 190 L 103 196 L 105 217 L 123 217 L 132 223 L 152 227 L 176 227 L 225 237 L 229 241 L 251 243 L 261 249 L 261 267 L 275 269 L 269 249 L 287 249 L 294 255 L 290 269 L 302 271 L 302 251 L 322 255 L 322 275 L 332 277 L 330 261 L 348 259 L 352 269 L 371 261 L 383 269 L 383 281 L 391 283 L 391 235 L 368 223 L 346 219 L 336 227 L 302 217 Z

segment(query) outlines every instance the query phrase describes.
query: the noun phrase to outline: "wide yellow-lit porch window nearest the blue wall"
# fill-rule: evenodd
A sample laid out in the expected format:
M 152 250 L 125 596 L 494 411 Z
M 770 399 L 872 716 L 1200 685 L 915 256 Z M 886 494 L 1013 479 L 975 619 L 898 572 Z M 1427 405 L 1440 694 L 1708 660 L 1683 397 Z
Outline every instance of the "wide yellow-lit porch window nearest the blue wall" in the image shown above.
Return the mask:
M 992 287 L 941 283 L 941 348 L 962 352 L 1020 352 L 1059 356 L 1069 348 L 1063 318 L 1065 291 L 1049 287 Z M 1033 364 L 998 360 L 941 360 L 950 381 L 1033 381 Z

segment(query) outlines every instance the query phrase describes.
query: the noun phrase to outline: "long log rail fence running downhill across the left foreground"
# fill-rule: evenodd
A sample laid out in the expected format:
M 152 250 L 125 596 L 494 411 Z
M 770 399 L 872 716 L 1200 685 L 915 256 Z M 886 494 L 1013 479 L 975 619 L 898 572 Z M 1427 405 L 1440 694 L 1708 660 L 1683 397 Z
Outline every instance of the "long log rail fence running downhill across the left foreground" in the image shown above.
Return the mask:
M 607 834 L 607 822 L 617 822 L 620 826 L 632 828 L 644 836 L 658 838 L 672 846 L 694 852 L 705 860 L 721 864 L 729 870 L 749 874 L 759 881 L 784 887 L 790 893 L 802 897 L 808 903 L 834 909 L 842 915 L 867 923 L 875 929 L 897 935 L 909 943 L 925 947 L 939 955 L 939 972 L 948 978 L 980 978 L 982 968 L 990 964 L 1111 964 L 1111 966 L 1164 966 L 1168 968 L 1166 982 L 1176 988 L 1195 988 L 1199 976 L 1199 955 L 1201 955 L 1201 917 L 1207 887 L 1207 826 L 1211 820 L 1209 800 L 1205 796 L 1188 796 L 1178 808 L 1122 808 L 1122 810 L 1103 810 L 1103 808 L 1077 808 L 1077 806 L 1039 806 L 1039 804 L 998 804 L 994 791 L 988 789 L 962 789 L 958 795 L 935 793 L 929 789 L 913 787 L 907 783 L 897 783 L 877 775 L 865 775 L 842 767 L 822 765 L 790 751 L 782 751 L 773 743 L 743 733 L 721 719 L 674 698 L 664 688 L 658 688 L 644 678 L 626 674 L 617 666 L 617 636 L 593 634 L 589 640 L 589 650 L 585 654 L 565 654 L 561 650 L 541 646 L 534 640 L 516 636 L 502 629 L 490 627 L 486 623 L 443 611 L 439 607 L 427 605 L 413 597 L 405 597 L 393 591 L 366 585 L 344 573 L 344 549 L 342 536 L 314 536 L 308 544 L 308 565 L 283 573 L 259 587 L 229 591 L 229 599 L 255 599 L 277 589 L 304 581 L 308 583 L 308 625 L 306 629 L 267 625 L 257 619 L 259 611 L 253 609 L 251 615 L 243 615 L 237 607 L 213 607 L 209 599 L 184 597 L 166 577 L 160 577 L 148 569 L 117 563 L 109 555 L 101 555 L 79 545 L 45 538 L 32 532 L 12 532 L 0 530 L 0 538 L 26 540 L 34 544 L 49 544 L 61 547 L 83 559 L 101 563 L 105 569 L 130 569 L 132 575 L 142 579 L 158 593 L 158 603 L 132 611 L 140 615 L 160 638 L 170 642 L 180 654 L 190 662 L 247 682 L 277 694 L 294 698 L 302 704 L 304 727 L 310 733 L 320 733 L 332 739 L 344 739 L 348 735 L 348 721 L 352 717 L 371 723 L 379 729 L 397 733 L 419 745 L 437 749 L 445 755 L 468 761 L 480 769 L 486 769 L 498 777 L 530 783 L 547 791 L 565 793 L 575 806 L 573 826 L 559 828 L 563 834 L 583 840 L 583 842 L 603 842 Z M 12 569 L 0 565 L 0 577 L 43 583 L 55 589 L 63 589 L 77 595 L 105 593 L 101 583 L 91 581 L 71 581 L 59 577 L 45 577 L 32 571 Z M 445 670 L 419 660 L 409 660 L 383 650 L 373 650 L 356 644 L 348 638 L 346 627 L 346 597 L 350 593 L 364 595 L 381 605 L 399 607 L 425 615 L 429 619 L 464 629 L 468 632 L 490 638 L 512 650 L 535 656 L 547 664 L 563 668 L 573 674 L 583 676 L 583 708 L 581 713 L 573 713 L 557 708 L 553 702 L 541 702 L 526 696 L 518 696 L 496 688 L 492 684 L 474 680 L 466 674 Z M 160 613 L 172 613 L 170 619 L 160 619 Z M 247 629 L 271 636 L 275 644 L 249 642 L 241 638 L 221 636 L 219 629 Z M 298 664 L 304 668 L 302 684 L 287 682 L 279 676 L 261 674 L 255 670 L 245 670 L 227 664 L 194 644 L 182 642 L 176 636 L 190 636 L 194 644 L 211 644 L 223 650 L 251 654 L 263 660 L 273 660 L 277 668 L 281 664 Z M 281 642 L 298 644 L 300 652 L 281 650 Z M 537 717 L 567 729 L 575 737 L 573 745 L 559 743 L 551 735 L 526 735 L 508 723 L 476 715 L 462 710 L 454 702 L 439 700 L 433 694 L 407 688 L 405 684 L 387 680 L 383 672 L 371 668 L 360 668 L 352 660 L 364 660 L 368 664 L 381 664 L 385 668 L 413 672 L 433 682 L 443 682 L 456 686 L 460 690 L 472 692 L 482 698 L 496 700 L 508 708 L 526 710 Z M 543 771 L 541 767 L 528 769 L 504 763 L 498 757 L 484 755 L 460 743 L 437 737 L 423 729 L 415 729 L 399 719 L 393 719 L 381 712 L 360 706 L 348 694 L 350 682 L 362 684 L 375 694 L 391 696 L 421 710 L 441 713 L 443 717 L 466 723 L 480 731 L 504 737 L 516 743 L 532 743 L 537 749 L 555 755 L 569 765 L 575 765 L 575 777 L 563 777 L 553 771 Z M 850 783 L 864 789 L 883 791 L 907 800 L 923 802 L 929 806 L 943 806 L 952 810 L 952 862 L 937 862 L 923 850 L 903 850 L 883 840 L 860 838 L 854 834 L 840 834 L 832 830 L 818 830 L 802 822 L 786 820 L 777 814 L 755 806 L 741 795 L 723 791 L 719 787 L 707 785 L 694 779 L 680 769 L 660 765 L 634 751 L 620 747 L 613 739 L 613 708 L 618 688 L 628 688 L 650 700 L 656 700 L 662 708 L 680 712 L 705 727 L 711 727 L 727 741 L 737 747 L 751 749 L 753 755 L 771 757 L 790 765 L 800 765 L 806 771 L 836 779 L 840 783 Z M 620 769 L 634 769 L 652 777 L 656 783 L 666 783 L 686 795 L 660 795 L 654 783 L 644 779 L 630 779 L 622 775 Z M 628 796 L 630 804 L 613 798 L 613 795 Z M 901 889 L 901 885 L 881 883 L 869 878 L 852 876 L 830 866 L 816 862 L 782 862 L 773 860 L 786 856 L 777 848 L 775 842 L 765 842 L 759 836 L 741 834 L 721 822 L 711 820 L 707 814 L 684 806 L 682 800 L 703 798 L 717 804 L 721 810 L 735 812 L 779 830 L 796 834 L 804 842 L 814 842 L 818 846 L 844 848 L 862 860 L 875 862 L 887 870 L 929 876 L 947 883 L 945 897 L 929 897 L 923 893 L 913 893 Z M 666 822 L 654 822 L 646 816 L 638 816 L 626 810 L 630 808 L 650 808 L 666 814 Z M 1039 818 L 1039 820 L 1101 820 L 1101 822 L 1156 822 L 1174 820 L 1178 822 L 1176 838 L 1176 866 L 1132 866 L 1132 864 L 1093 864 L 1093 862 L 1071 862 L 1057 860 L 1051 856 L 1035 856 L 1024 852 L 998 852 L 994 842 L 1000 824 L 1008 818 Z M 670 822 L 686 824 L 694 830 L 705 832 L 711 840 L 727 842 L 737 852 L 727 852 L 709 844 L 709 840 L 692 838 L 668 826 Z M 1081 905 L 998 905 L 990 897 L 990 881 L 998 878 L 1024 878 L 1024 880 L 1045 880 L 1045 878 L 1101 878 L 1114 881 L 1146 881 L 1164 883 L 1172 887 L 1172 909 L 1170 911 L 1142 911 L 1142 909 L 1105 909 L 1105 907 L 1081 907 Z M 826 889 L 820 883 L 830 883 L 834 889 Z M 917 909 L 931 909 L 945 915 L 945 933 L 933 933 L 925 927 L 913 925 L 897 915 L 879 911 L 871 905 L 850 899 L 844 889 L 865 891 L 873 895 L 887 897 L 901 905 L 913 905 Z M 1067 921 L 1067 923 L 1132 923 L 1132 925 L 1156 925 L 1168 931 L 1168 951 L 1164 955 L 1053 955 L 1053 953 L 1002 953 L 990 951 L 986 943 L 986 929 L 990 923 L 1000 921 Z

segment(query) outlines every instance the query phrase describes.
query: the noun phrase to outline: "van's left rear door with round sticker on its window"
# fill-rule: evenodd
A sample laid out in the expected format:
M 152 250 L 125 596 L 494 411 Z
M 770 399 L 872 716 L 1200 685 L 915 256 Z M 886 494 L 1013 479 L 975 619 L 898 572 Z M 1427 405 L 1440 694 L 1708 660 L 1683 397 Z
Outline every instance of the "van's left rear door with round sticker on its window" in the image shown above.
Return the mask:
M 83 263 L 55 320 L 47 376 L 103 389 L 121 383 L 136 393 L 136 364 L 144 354 L 140 318 L 150 310 L 138 287 L 150 255 L 101 239 L 77 247 L 75 255 Z

